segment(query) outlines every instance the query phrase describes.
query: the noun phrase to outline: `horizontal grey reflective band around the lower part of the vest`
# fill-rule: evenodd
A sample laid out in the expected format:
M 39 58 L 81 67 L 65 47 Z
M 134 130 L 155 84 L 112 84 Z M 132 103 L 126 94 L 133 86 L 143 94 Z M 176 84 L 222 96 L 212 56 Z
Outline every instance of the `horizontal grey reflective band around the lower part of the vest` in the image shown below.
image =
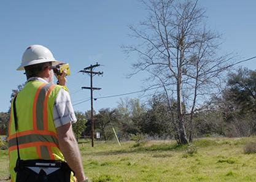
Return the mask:
M 18 137 L 18 145 L 22 145 L 25 143 L 33 143 L 33 142 L 50 142 L 55 143 L 58 145 L 58 139 L 52 135 L 38 135 L 38 134 L 31 134 L 31 135 L 24 135 Z M 9 140 L 9 147 L 16 146 L 16 138 L 12 138 Z

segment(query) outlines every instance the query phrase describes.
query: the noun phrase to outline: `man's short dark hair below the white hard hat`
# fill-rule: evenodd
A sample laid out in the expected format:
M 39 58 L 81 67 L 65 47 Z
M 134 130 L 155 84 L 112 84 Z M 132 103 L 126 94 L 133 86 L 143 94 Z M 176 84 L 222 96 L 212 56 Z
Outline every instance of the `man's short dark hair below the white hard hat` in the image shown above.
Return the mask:
M 25 74 L 27 80 L 31 77 L 38 77 L 38 75 L 45 69 L 47 66 L 52 66 L 52 62 L 45 62 L 39 64 L 33 64 L 30 66 L 25 66 Z

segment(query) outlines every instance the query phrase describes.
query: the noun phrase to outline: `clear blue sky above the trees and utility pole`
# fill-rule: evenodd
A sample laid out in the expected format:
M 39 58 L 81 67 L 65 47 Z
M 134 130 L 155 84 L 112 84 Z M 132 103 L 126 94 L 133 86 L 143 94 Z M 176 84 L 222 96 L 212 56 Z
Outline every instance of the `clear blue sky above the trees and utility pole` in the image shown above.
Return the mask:
M 256 56 L 256 1 L 198 1 L 206 9 L 209 27 L 222 34 L 222 52 L 233 52 L 239 58 Z M 128 25 L 136 25 L 147 15 L 136 0 L 101 1 L 0 1 L 0 52 L 1 94 L 0 112 L 9 108 L 10 93 L 25 82 L 23 72 L 17 71 L 26 47 L 41 44 L 52 50 L 56 59 L 68 62 L 68 77 L 73 104 L 90 97 L 87 75 L 77 73 L 83 67 L 95 64 L 104 66 L 103 77 L 94 78 L 94 97 L 110 96 L 141 90 L 144 74 L 127 79 L 133 72 L 131 63 L 136 56 L 126 58 L 121 45 L 133 44 L 127 34 Z M 239 66 L 256 69 L 256 59 Z M 129 97 L 138 97 L 138 94 Z M 121 97 L 98 99 L 95 109 L 117 106 Z M 90 102 L 74 106 L 84 112 Z

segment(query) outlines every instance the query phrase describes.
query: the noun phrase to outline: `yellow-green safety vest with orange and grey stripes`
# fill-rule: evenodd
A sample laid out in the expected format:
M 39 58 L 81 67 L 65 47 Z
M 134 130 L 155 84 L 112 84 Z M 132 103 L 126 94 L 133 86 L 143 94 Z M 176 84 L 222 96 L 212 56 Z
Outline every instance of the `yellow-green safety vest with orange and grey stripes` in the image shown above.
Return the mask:
M 26 83 L 16 99 L 17 134 L 12 103 L 8 141 L 10 176 L 13 182 L 16 180 L 14 167 L 18 157 L 16 136 L 18 137 L 20 158 L 22 160 L 52 159 L 65 161 L 58 146 L 53 121 L 53 105 L 61 88 L 63 86 L 47 84 L 37 80 Z M 71 178 L 71 181 L 73 180 Z

